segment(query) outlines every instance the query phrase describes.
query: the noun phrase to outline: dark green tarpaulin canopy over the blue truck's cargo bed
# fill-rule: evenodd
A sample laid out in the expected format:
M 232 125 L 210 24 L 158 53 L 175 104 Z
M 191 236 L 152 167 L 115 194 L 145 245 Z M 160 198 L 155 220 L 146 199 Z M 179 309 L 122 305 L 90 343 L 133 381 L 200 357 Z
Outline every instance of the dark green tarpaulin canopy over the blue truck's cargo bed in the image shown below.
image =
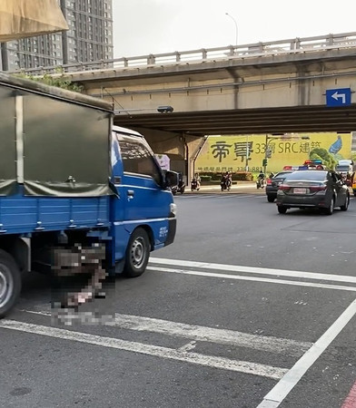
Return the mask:
M 111 194 L 108 102 L 0 73 L 0 195 Z

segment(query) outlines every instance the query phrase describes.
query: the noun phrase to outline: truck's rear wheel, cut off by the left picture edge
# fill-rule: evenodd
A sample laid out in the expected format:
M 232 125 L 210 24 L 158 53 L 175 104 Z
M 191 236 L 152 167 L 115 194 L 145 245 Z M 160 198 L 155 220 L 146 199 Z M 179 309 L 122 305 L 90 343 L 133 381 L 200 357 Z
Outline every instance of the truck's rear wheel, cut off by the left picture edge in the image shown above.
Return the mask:
M 15 306 L 21 292 L 21 273 L 15 259 L 0 249 L 0 318 Z

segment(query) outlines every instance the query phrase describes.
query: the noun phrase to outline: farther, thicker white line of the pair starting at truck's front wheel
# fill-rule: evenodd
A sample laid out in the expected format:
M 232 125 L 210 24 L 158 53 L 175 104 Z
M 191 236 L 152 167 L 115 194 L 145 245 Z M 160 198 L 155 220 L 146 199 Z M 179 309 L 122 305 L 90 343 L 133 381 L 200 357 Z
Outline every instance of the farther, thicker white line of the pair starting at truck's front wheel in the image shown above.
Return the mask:
M 198 267 L 201 269 L 225 270 L 231 272 L 246 272 L 249 274 L 272 275 L 282 277 L 299 277 L 302 279 L 327 280 L 334 282 L 356 283 L 356 277 L 348 275 L 320 274 L 315 272 L 303 272 L 288 269 L 274 269 L 269 267 L 242 267 L 238 265 L 213 264 L 207 262 L 186 261 L 180 259 L 168 259 L 151 257 L 150 263 L 163 265 L 178 265 L 179 267 Z

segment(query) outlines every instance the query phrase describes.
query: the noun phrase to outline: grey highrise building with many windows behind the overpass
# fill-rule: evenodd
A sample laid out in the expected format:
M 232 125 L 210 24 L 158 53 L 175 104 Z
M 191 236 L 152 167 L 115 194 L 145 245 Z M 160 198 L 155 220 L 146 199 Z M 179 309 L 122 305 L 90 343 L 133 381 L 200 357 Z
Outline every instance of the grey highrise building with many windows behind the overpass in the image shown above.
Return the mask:
M 14 72 L 113 58 L 113 0 L 57 1 L 69 30 L 2 44 L 0 69 Z

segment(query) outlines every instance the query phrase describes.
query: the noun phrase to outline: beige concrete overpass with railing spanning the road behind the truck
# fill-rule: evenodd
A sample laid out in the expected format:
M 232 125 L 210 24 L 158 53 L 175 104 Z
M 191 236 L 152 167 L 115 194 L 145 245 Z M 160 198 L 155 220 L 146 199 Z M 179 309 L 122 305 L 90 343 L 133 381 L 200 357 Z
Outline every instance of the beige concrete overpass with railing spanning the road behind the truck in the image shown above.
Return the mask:
M 205 135 L 356 131 L 356 32 L 63 69 L 88 94 L 113 102 L 116 124 L 142 131 L 154 151 L 186 166 Z M 337 93 L 341 103 L 330 106 L 331 90 L 340 89 L 350 101 Z M 159 105 L 174 112 L 158 113 Z

